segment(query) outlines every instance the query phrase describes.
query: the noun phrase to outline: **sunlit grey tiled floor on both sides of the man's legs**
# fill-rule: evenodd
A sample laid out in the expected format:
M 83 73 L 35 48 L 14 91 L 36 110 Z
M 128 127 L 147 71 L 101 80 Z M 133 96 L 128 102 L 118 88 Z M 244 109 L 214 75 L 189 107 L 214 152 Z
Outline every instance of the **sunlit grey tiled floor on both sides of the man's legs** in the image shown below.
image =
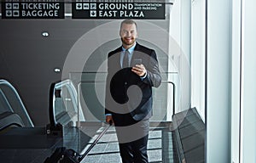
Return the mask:
M 98 131 L 102 132 L 102 129 Z M 97 135 L 95 136 L 95 138 Z M 89 148 L 95 138 L 90 140 Z M 174 163 L 174 150 L 172 146 L 172 132 L 163 127 L 151 128 L 148 139 L 148 160 L 149 163 Z M 90 150 L 83 163 L 120 163 L 119 145 L 114 127 L 110 127 L 108 132 L 102 136 L 96 146 Z

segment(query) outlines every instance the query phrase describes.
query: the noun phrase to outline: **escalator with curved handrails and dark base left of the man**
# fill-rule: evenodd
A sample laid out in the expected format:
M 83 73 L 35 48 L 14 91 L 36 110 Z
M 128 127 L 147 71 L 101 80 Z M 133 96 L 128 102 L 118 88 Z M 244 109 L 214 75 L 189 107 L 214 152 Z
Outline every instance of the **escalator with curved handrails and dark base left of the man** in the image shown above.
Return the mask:
M 61 94 L 55 91 L 61 91 Z M 54 94 L 49 97 L 50 124 L 33 126 L 15 87 L 0 81 L 1 161 L 42 163 L 60 147 L 80 153 L 90 138 L 104 127 L 102 122 L 84 122 L 79 128 L 74 126 L 78 116 L 84 121 L 84 115 L 77 113 L 77 96 L 69 80 L 55 83 L 49 94 Z

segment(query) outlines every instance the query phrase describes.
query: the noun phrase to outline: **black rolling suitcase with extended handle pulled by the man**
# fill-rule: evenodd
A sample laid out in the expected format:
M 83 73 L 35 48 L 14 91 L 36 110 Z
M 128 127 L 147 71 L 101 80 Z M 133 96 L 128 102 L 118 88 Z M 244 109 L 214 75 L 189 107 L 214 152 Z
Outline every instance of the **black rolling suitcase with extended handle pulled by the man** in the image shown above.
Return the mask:
M 90 149 L 92 149 L 96 143 L 102 138 L 102 136 L 108 131 L 108 128 L 111 125 L 107 126 L 102 133 L 96 138 L 96 140 L 90 145 L 89 149 L 87 149 L 83 155 L 80 155 L 73 149 L 66 149 L 65 147 L 59 147 L 55 149 L 55 152 L 50 155 L 44 163 L 79 163 L 84 159 L 86 155 L 89 154 Z

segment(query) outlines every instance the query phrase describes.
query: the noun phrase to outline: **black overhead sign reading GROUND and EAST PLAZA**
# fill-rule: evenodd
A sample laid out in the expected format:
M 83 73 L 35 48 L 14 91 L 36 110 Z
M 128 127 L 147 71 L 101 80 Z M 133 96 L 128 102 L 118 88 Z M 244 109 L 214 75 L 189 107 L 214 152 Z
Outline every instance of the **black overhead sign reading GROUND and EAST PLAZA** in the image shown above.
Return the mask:
M 165 20 L 165 3 L 99 3 L 77 1 L 72 4 L 73 19 Z

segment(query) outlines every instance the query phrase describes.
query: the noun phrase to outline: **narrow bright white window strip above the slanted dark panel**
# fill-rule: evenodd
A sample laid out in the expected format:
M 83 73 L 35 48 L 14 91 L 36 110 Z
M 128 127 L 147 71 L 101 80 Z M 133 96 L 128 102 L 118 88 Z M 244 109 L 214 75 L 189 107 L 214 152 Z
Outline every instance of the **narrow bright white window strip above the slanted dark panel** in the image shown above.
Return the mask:
M 206 1 L 191 6 L 191 106 L 205 121 L 206 73 Z

